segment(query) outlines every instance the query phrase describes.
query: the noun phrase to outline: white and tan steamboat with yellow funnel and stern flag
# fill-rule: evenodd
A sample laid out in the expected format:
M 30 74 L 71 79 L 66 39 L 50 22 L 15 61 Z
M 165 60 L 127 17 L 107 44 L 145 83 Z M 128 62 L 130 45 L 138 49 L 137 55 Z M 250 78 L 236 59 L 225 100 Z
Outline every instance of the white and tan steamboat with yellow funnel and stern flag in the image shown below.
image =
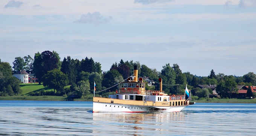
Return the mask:
M 187 87 L 184 95 L 168 95 L 162 90 L 162 79 L 159 78 L 159 90 L 146 90 L 143 78 L 138 80 L 138 66 L 134 65 L 134 76 L 119 84 L 116 94 L 108 98 L 93 97 L 93 112 L 180 112 L 189 103 Z

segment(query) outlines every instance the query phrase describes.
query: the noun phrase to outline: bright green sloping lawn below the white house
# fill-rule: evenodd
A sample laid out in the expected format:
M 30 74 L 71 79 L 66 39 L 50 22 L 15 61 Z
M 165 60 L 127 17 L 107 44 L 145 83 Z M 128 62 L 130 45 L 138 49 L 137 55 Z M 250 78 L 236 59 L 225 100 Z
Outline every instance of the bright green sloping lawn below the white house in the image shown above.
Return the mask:
M 44 87 L 43 84 L 38 84 L 38 83 L 35 83 L 35 84 L 20 84 L 20 88 L 22 90 L 22 94 L 24 95 L 27 95 L 29 94 L 30 92 L 33 92 L 33 91 L 41 91 L 41 90 L 44 90 L 44 91 L 52 91 L 53 89 L 52 88 L 49 88 L 49 87 Z

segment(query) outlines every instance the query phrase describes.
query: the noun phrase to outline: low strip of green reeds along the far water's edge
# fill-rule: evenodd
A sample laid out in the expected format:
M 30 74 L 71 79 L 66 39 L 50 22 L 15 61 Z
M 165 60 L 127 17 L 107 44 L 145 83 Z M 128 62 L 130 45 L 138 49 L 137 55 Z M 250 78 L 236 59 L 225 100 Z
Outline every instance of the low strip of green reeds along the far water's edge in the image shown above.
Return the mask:
M 63 96 L 0 96 L 0 100 L 35 100 L 35 101 L 80 101 L 92 102 L 92 99 L 67 100 Z M 196 103 L 256 103 L 256 99 L 199 99 L 192 100 Z

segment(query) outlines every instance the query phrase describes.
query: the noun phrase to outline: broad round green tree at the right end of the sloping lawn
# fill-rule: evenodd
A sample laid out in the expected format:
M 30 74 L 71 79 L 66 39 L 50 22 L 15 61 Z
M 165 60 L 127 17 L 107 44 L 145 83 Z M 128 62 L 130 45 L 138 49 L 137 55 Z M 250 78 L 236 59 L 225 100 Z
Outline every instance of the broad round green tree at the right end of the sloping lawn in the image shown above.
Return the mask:
M 53 88 L 54 92 L 55 90 L 59 91 L 60 93 L 63 92 L 67 83 L 67 76 L 59 69 L 50 70 L 46 75 L 43 76 L 43 85 Z

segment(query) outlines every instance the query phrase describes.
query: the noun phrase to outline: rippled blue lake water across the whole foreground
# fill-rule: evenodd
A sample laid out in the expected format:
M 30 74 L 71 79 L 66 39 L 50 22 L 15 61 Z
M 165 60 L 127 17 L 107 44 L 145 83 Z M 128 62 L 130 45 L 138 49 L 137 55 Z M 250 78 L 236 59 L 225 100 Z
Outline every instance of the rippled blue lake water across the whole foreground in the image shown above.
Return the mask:
M 256 135 L 256 104 L 92 113 L 92 102 L 0 101 L 0 135 Z

